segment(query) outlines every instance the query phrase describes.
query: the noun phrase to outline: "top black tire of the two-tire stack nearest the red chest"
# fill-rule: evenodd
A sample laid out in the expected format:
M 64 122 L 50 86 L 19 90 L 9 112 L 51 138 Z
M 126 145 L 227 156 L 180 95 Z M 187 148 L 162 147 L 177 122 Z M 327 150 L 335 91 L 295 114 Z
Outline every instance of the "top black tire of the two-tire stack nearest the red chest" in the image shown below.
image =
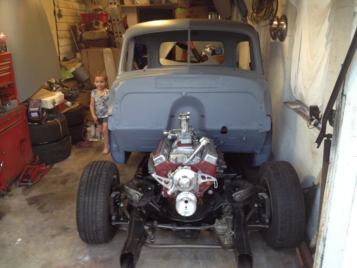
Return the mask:
M 32 144 L 54 142 L 68 135 L 67 118 L 60 117 L 43 124 L 29 124 Z

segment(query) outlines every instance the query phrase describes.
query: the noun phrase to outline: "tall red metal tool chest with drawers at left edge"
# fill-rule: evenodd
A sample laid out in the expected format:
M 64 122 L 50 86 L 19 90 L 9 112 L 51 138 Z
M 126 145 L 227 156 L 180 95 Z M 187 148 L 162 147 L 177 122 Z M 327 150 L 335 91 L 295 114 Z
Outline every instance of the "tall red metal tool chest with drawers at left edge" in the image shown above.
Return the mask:
M 0 54 L 0 98 L 9 98 L 8 95 L 18 101 L 10 52 Z M 0 115 L 0 190 L 6 190 L 32 161 L 26 107 L 20 103 L 16 109 L 4 111 Z

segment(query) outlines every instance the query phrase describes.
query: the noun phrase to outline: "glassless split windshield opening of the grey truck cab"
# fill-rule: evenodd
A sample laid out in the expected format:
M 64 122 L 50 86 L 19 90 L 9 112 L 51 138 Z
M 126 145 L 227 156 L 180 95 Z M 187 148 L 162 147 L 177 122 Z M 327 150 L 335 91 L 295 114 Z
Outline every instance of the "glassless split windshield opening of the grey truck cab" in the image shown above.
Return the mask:
M 224 31 L 142 33 L 127 43 L 124 71 L 185 65 L 255 70 L 251 42 L 244 33 Z

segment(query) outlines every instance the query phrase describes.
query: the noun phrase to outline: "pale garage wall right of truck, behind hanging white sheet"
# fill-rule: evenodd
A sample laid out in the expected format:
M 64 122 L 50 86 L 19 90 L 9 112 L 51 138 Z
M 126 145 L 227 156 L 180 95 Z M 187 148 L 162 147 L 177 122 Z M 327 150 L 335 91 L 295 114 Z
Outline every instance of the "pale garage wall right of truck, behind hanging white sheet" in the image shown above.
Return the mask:
M 349 48 L 354 18 L 355 0 L 336 2 L 338 3 L 335 3 L 333 40 L 325 102 L 329 99 Z M 319 149 L 316 148 L 315 140 L 320 130 L 318 128 L 309 129 L 308 117 L 288 108 L 284 103 L 292 99 L 290 86 L 292 34 L 296 20 L 296 9 L 288 0 L 279 1 L 277 16 L 281 17 L 282 15 L 286 15 L 288 18 L 287 36 L 283 42 L 271 40 L 269 74 L 267 76 L 273 102 L 272 159 L 291 162 L 297 170 L 303 187 L 308 187 L 315 181 L 322 167 L 323 144 Z M 332 133 L 332 128 L 327 128 L 326 133 Z M 308 238 L 311 238 L 317 226 L 317 200 L 311 215 L 308 217 L 307 234 Z

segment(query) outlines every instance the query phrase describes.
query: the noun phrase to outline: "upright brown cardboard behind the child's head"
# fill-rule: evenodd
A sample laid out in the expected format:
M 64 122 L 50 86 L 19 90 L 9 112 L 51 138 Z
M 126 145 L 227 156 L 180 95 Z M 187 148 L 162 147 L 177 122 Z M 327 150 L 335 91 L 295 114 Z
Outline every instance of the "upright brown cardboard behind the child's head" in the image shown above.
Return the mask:
M 105 71 L 108 76 L 108 89 L 110 89 L 119 61 L 120 49 L 90 48 L 81 50 L 83 67 L 90 74 L 90 82 L 93 83 L 94 74 L 97 71 Z

